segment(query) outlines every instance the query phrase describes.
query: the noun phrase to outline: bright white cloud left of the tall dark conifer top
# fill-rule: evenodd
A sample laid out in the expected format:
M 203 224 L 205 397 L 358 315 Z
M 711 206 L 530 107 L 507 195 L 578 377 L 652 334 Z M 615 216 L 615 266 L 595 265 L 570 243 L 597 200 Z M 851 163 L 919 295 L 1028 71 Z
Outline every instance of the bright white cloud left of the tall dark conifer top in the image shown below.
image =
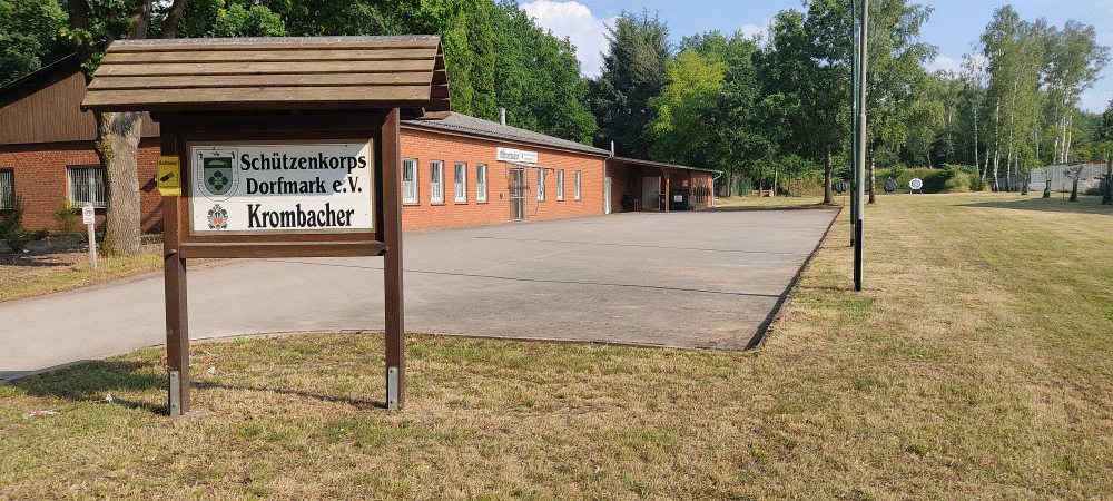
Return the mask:
M 538 0 L 521 7 L 538 26 L 559 38 L 571 40 L 575 46 L 575 58 L 580 60 L 581 73 L 588 77 L 599 75 L 603 65 L 601 52 L 608 48 L 603 33 L 607 32 L 607 24 L 614 24 L 614 18 L 595 19 L 590 9 L 574 1 Z

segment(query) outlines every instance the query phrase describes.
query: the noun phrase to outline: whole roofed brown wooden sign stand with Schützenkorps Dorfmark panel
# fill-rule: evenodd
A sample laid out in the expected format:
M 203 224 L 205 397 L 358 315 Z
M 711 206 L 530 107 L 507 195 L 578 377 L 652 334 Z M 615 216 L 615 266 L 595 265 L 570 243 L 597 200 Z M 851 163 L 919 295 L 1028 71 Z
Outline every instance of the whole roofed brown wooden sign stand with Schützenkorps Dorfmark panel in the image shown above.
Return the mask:
M 404 406 L 398 122 L 449 109 L 440 38 L 118 41 L 83 106 L 160 124 L 170 415 L 190 409 L 186 259 L 209 257 L 383 256 L 385 406 Z

